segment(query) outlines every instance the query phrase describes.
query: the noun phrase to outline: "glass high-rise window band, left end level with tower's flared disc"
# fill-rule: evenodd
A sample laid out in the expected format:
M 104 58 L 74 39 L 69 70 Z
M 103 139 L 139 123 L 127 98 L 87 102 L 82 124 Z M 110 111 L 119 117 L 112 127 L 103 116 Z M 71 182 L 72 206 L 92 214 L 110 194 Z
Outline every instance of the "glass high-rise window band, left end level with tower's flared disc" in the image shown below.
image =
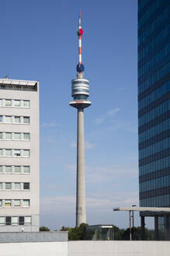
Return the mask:
M 163 84 L 161 87 L 158 87 L 158 89 L 151 92 L 151 94 L 148 94 L 147 97 L 138 101 L 138 111 L 151 104 L 151 102 L 156 101 L 158 98 L 161 98 L 161 96 L 166 94 L 168 91 L 170 91 L 170 82 Z

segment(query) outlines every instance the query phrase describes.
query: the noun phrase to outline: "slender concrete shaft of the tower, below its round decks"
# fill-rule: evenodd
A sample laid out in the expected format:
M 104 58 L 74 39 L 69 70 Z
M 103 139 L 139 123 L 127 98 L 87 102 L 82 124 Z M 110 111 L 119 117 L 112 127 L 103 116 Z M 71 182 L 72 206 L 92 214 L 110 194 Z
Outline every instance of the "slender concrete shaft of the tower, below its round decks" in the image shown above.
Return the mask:
M 84 112 L 78 109 L 76 226 L 86 223 Z

